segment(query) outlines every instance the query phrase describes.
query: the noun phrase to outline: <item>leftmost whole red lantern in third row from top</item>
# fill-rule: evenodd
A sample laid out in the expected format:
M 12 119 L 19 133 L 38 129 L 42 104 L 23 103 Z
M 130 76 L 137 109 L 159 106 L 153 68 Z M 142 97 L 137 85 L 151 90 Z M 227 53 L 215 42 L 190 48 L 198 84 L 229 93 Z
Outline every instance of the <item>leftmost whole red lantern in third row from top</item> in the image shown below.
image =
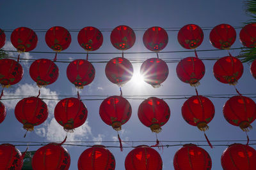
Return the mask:
M 15 106 L 15 117 L 27 131 L 33 131 L 34 126 L 44 123 L 48 117 L 47 105 L 39 97 L 26 97 Z

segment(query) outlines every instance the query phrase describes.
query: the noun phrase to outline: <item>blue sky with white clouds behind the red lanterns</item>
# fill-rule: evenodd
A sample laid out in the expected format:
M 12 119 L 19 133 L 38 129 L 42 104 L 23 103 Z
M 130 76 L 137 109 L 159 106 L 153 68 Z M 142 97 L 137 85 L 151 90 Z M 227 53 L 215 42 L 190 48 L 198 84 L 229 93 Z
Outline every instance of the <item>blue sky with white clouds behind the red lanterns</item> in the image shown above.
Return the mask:
M 244 13 L 243 1 L 1 1 L 0 2 L 0 28 L 5 30 L 13 30 L 17 27 L 29 27 L 31 29 L 49 29 L 50 27 L 60 25 L 67 29 L 82 29 L 86 26 L 93 26 L 99 29 L 113 29 L 118 25 L 128 25 L 132 28 L 149 28 L 152 26 L 159 27 L 182 27 L 186 24 L 196 24 L 200 27 L 214 27 L 218 24 L 230 24 L 234 27 L 241 26 L 242 22 L 248 20 Z M 237 39 L 233 48 L 240 47 L 239 31 L 236 29 Z M 209 42 L 209 32 L 204 31 L 204 41 L 197 50 L 215 49 Z M 70 32 L 72 42 L 70 47 L 65 52 L 84 52 L 83 48 L 77 43 L 78 32 Z M 97 52 L 119 52 L 110 42 L 111 32 L 102 32 L 104 36 L 103 45 Z M 136 31 L 136 43 L 127 52 L 148 52 L 143 46 L 144 31 Z M 4 46 L 6 50 L 13 50 L 10 44 L 11 32 L 6 32 L 7 43 Z M 36 32 L 38 36 L 38 45 L 33 51 L 52 52 L 45 43 L 45 32 Z M 169 31 L 169 42 L 164 51 L 180 51 L 184 50 L 177 41 L 177 31 Z M 230 50 L 232 55 L 237 56 L 239 50 Z M 11 56 L 17 57 L 17 53 L 10 53 Z M 224 57 L 227 56 L 227 51 L 211 51 L 198 52 L 198 57 Z M 118 57 L 116 54 L 90 54 L 90 59 L 110 60 L 113 57 Z M 163 60 L 185 57 L 193 57 L 193 52 L 188 53 L 160 53 L 159 57 Z M 52 53 L 25 53 L 21 57 L 29 59 L 47 58 L 53 59 Z M 125 54 L 127 59 L 149 59 L 156 57 L 154 53 L 148 54 Z M 59 54 L 58 59 L 86 59 L 84 54 Z M 236 94 L 234 87 L 220 83 L 212 74 L 212 67 L 215 61 L 204 60 L 206 73 L 200 81 L 198 87 L 199 94 Z M 5 95 L 31 95 L 38 94 L 38 87 L 29 76 L 29 64 L 22 63 L 24 67 L 24 77 L 17 84 L 9 89 L 4 90 Z M 46 89 L 41 90 L 42 95 L 54 95 L 54 99 L 63 99 L 61 95 L 72 96 L 76 95 L 74 85 L 70 83 L 66 76 L 67 63 L 56 63 L 60 69 L 58 80 L 49 85 Z M 133 64 L 134 71 L 138 72 L 140 64 Z M 81 95 L 119 95 L 119 89 L 111 83 L 105 76 L 104 69 L 106 64 L 94 63 L 96 70 L 95 80 L 88 87 L 84 87 L 80 91 Z M 133 81 L 128 82 L 123 88 L 125 95 L 195 95 L 195 89 L 188 84 L 183 83 L 176 75 L 177 63 L 168 63 L 169 75 L 163 86 L 159 89 L 154 89 L 146 83 L 141 85 Z M 237 84 L 237 89 L 241 94 L 255 93 L 256 80 L 250 74 L 250 64 L 244 64 L 244 74 Z M 231 97 L 231 96 L 230 96 Z M 7 97 L 5 97 L 7 98 Z M 48 97 L 49 98 L 49 97 Z M 97 97 L 99 98 L 99 97 Z M 143 97 L 146 98 L 146 97 Z M 3 97 L 4 99 L 4 97 Z M 82 99 L 92 99 L 92 97 L 82 97 Z M 104 99 L 104 97 L 102 98 Z M 152 134 L 149 128 L 140 123 L 137 111 L 138 106 L 143 101 L 141 99 L 128 99 L 132 106 L 132 116 L 129 122 L 123 126 L 123 131 L 120 133 L 121 138 L 125 141 L 154 141 L 155 135 Z M 187 141 L 187 140 L 205 140 L 204 134 L 196 127 L 187 124 L 181 115 L 181 106 L 185 99 L 165 100 L 171 110 L 170 120 L 163 126 L 163 131 L 158 134 L 159 140 L 162 141 Z M 230 140 L 230 139 L 246 139 L 246 135 L 239 127 L 234 127 L 227 123 L 223 117 L 222 107 L 227 99 L 213 99 L 212 103 L 215 106 L 215 117 L 209 124 L 207 131 L 210 140 Z M 25 131 L 22 125 L 15 119 L 13 108 L 17 101 L 3 101 L 8 108 L 6 119 L 0 124 L 1 141 L 60 141 L 65 138 L 65 131 L 57 124 L 53 117 L 53 110 L 58 101 L 45 100 L 48 104 L 50 113 L 47 121 L 35 127 L 35 131 L 23 138 Z M 68 141 L 115 141 L 116 132 L 108 125 L 104 124 L 99 117 L 99 106 L 102 101 L 83 101 L 88 108 L 88 119 L 86 124 L 77 128 L 73 134 L 68 134 Z M 255 122 L 252 124 L 255 126 Z M 248 133 L 250 139 L 255 139 L 255 129 Z M 222 144 L 231 144 L 222 143 Z M 86 144 L 86 143 L 85 143 Z M 118 143 L 102 143 L 106 146 L 117 146 Z M 153 143 L 138 143 L 138 145 L 153 145 Z M 166 144 L 166 143 L 164 143 Z M 173 143 L 170 143 L 173 144 Z M 185 143 L 178 143 L 185 144 Z M 207 143 L 195 143 L 207 144 Z M 219 143 L 212 143 L 219 144 Z M 88 145 L 91 145 L 90 143 Z M 132 143 L 125 144 L 131 146 Z M 133 144 L 134 146 L 137 143 Z M 17 146 L 20 151 L 24 151 L 26 146 Z M 77 169 L 77 160 L 79 155 L 86 149 L 81 146 L 65 146 L 71 156 L 70 169 Z M 164 148 L 161 153 L 163 159 L 163 170 L 173 169 L 173 155 L 180 146 Z M 212 169 L 221 169 L 220 157 L 226 146 L 216 146 L 211 149 L 209 146 L 202 147 L 211 155 Z M 29 150 L 37 150 L 38 146 L 31 146 Z M 124 169 L 124 160 L 131 148 L 125 148 L 124 152 L 120 152 L 118 148 L 109 148 L 116 159 L 116 169 Z

